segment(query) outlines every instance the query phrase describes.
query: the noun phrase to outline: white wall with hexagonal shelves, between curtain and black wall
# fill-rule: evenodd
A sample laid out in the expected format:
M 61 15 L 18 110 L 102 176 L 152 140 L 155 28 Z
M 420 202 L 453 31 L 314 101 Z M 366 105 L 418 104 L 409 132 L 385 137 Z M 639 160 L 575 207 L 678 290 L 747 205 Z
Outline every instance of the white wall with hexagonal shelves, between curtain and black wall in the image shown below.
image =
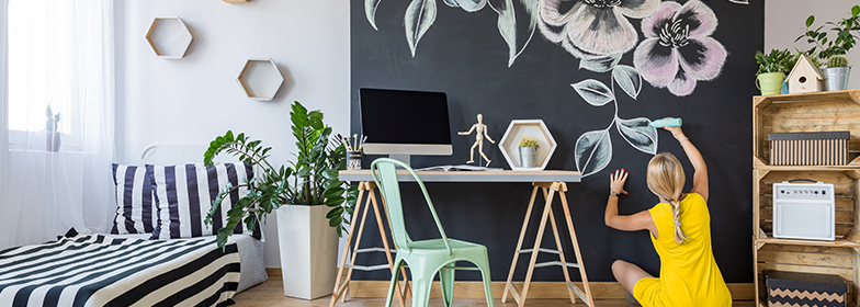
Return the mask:
M 155 16 L 181 16 L 194 35 L 183 59 L 157 58 L 144 39 Z M 262 139 L 272 161 L 292 159 L 290 105 L 319 109 L 349 133 L 349 2 L 342 0 L 116 1 L 116 146 L 136 163 L 149 144 L 208 144 L 227 129 Z M 236 82 L 249 57 L 273 58 L 286 79 L 274 101 Z M 203 152 L 201 152 L 201 161 Z M 265 265 L 281 266 L 275 216 L 264 227 Z

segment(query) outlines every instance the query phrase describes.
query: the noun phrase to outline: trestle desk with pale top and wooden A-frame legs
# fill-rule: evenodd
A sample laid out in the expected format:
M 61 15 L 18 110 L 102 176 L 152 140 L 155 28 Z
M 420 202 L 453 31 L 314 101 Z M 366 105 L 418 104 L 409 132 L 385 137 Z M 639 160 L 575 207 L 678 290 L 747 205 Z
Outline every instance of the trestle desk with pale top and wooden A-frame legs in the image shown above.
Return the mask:
M 586 269 L 582 264 L 582 258 L 579 253 L 579 243 L 576 239 L 576 231 L 574 230 L 574 223 L 570 218 L 570 211 L 567 206 L 567 196 L 565 192 L 567 192 L 567 182 L 579 182 L 581 180 L 581 175 L 579 172 L 576 171 L 420 171 L 417 172 L 418 177 L 423 182 L 531 182 L 534 189 L 532 189 L 532 195 L 529 201 L 529 207 L 525 212 L 525 219 L 522 223 L 522 229 L 520 230 L 520 238 L 517 242 L 517 248 L 513 251 L 513 261 L 510 266 L 510 273 L 508 274 L 508 281 L 505 286 L 505 293 L 501 297 L 501 302 L 505 303 L 508 298 L 508 293 L 510 293 L 513 299 L 518 303 L 520 307 L 525 304 L 525 297 L 529 293 L 529 286 L 531 284 L 532 273 L 534 268 L 543 268 L 543 266 L 551 266 L 551 265 L 559 265 L 564 272 L 565 281 L 567 282 L 567 292 L 570 297 L 572 303 L 576 303 L 576 296 L 581 298 L 588 306 L 595 306 L 593 298 L 591 296 L 591 288 L 588 285 L 588 277 L 586 275 Z M 381 213 L 378 206 L 376 204 L 376 196 L 374 192 L 374 187 L 376 184 L 373 182 L 373 177 L 371 175 L 370 170 L 348 170 L 348 171 L 340 171 L 340 180 L 341 181 L 359 181 L 359 201 L 355 204 L 355 211 L 352 215 L 352 223 L 350 224 L 349 235 L 347 236 L 347 247 L 343 252 L 343 257 L 341 258 L 340 265 L 338 269 L 338 277 L 337 282 L 335 283 L 335 292 L 331 295 L 331 303 L 329 306 L 333 307 L 337 303 L 338 298 L 343 298 L 346 300 L 346 291 L 349 287 L 350 278 L 352 275 L 352 270 L 378 270 L 378 269 L 389 269 L 393 270 L 392 263 L 394 262 L 392 259 L 392 250 L 389 249 L 388 239 L 385 235 L 385 228 L 382 225 Z M 406 170 L 398 170 L 397 171 L 397 180 L 405 181 L 405 182 L 414 182 L 415 178 L 406 171 Z M 543 190 L 542 194 L 544 200 L 544 208 L 541 217 L 541 224 L 539 226 L 538 236 L 534 241 L 534 247 L 532 249 L 522 249 L 522 242 L 525 238 L 525 229 L 529 226 L 529 218 L 532 214 L 532 208 L 534 205 L 534 200 L 538 196 L 538 191 Z M 364 212 L 362 215 L 361 224 L 358 223 L 359 211 L 361 209 L 361 201 L 364 197 L 365 192 L 367 193 L 367 200 L 364 204 Z M 576 253 L 576 262 L 567 262 L 565 260 L 564 252 L 562 251 L 562 242 L 558 237 L 558 227 L 555 223 L 555 216 L 553 215 L 552 211 L 552 203 L 555 193 L 559 194 L 559 198 L 562 201 L 563 211 L 565 213 L 565 219 L 567 221 L 567 229 L 570 232 L 570 240 L 574 246 L 574 251 Z M 361 241 L 361 234 L 364 229 L 364 219 L 367 216 L 367 208 L 370 205 L 373 205 L 373 211 L 376 215 L 376 224 L 380 228 L 380 236 L 382 237 L 383 241 L 383 249 L 380 248 L 367 248 L 367 249 L 359 249 L 359 243 Z M 385 216 L 388 216 L 388 211 L 385 206 Z M 387 219 L 387 218 L 386 218 Z M 550 220 L 551 226 L 553 228 L 553 234 L 555 238 L 555 246 L 556 249 L 547 249 L 541 248 L 541 240 L 543 238 L 544 230 L 546 228 L 546 220 Z M 358 237 L 354 246 L 352 247 L 352 261 L 347 264 L 347 252 L 350 250 L 350 243 L 353 237 L 353 230 L 358 226 Z M 388 225 L 388 229 L 391 230 L 391 225 Z M 362 266 L 355 265 L 355 254 L 359 252 L 365 251 L 384 251 L 387 259 L 388 265 L 375 265 L 375 266 Z M 548 252 L 558 254 L 559 261 L 551 261 L 544 263 L 535 263 L 538 260 L 539 252 Z M 512 283 L 513 278 L 513 271 L 517 266 L 517 260 L 521 253 L 531 253 L 531 259 L 529 261 L 529 269 L 525 273 L 524 283 L 521 291 L 518 291 Z M 582 278 L 582 287 L 585 287 L 585 292 L 582 292 L 578 286 L 574 285 L 570 282 L 569 274 L 567 272 L 567 268 L 576 268 L 579 269 L 579 274 Z M 346 278 L 342 278 L 343 271 L 347 270 Z M 404 269 L 405 270 L 405 269 Z M 403 272 L 403 276 L 406 276 L 406 272 Z M 343 281 L 341 281 L 343 280 Z M 398 286 L 399 287 L 399 286 Z M 405 306 L 405 298 L 409 294 L 409 283 L 408 281 L 404 281 L 404 287 L 401 291 L 396 292 L 398 294 L 398 300 L 400 302 L 400 306 Z

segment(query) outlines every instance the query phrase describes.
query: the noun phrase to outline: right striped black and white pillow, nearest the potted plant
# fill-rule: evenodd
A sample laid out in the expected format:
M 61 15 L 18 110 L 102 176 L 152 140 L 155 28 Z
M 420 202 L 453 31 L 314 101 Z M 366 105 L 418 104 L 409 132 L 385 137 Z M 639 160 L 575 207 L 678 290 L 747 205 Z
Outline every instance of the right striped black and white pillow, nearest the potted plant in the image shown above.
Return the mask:
M 234 186 L 253 178 L 249 164 L 219 163 L 212 167 L 204 164 L 156 166 L 155 179 L 156 203 L 158 215 L 152 239 L 194 238 L 212 236 L 227 224 L 227 211 L 239 202 L 247 193 L 246 187 L 230 192 L 224 197 L 218 211 L 212 217 L 212 225 L 206 225 L 206 214 L 218 192 L 227 182 Z M 234 234 L 249 234 L 260 238 L 260 225 L 251 231 L 240 224 Z

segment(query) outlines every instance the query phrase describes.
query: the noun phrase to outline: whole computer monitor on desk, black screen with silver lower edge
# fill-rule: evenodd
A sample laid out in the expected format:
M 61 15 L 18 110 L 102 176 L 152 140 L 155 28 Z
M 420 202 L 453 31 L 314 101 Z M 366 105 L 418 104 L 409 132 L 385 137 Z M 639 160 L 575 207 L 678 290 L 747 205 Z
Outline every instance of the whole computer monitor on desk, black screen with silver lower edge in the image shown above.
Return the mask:
M 410 155 L 453 154 L 445 93 L 360 89 L 359 94 L 364 154 L 406 163 Z

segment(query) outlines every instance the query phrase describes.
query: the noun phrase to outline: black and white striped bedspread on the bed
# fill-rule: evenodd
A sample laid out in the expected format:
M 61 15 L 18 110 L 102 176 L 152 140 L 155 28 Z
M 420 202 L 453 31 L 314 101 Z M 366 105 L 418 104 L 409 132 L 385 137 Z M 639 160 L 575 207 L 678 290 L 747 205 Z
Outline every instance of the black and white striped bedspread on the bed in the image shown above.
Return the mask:
M 236 243 L 215 237 L 103 235 L 0 251 L 0 306 L 226 306 L 239 283 Z

